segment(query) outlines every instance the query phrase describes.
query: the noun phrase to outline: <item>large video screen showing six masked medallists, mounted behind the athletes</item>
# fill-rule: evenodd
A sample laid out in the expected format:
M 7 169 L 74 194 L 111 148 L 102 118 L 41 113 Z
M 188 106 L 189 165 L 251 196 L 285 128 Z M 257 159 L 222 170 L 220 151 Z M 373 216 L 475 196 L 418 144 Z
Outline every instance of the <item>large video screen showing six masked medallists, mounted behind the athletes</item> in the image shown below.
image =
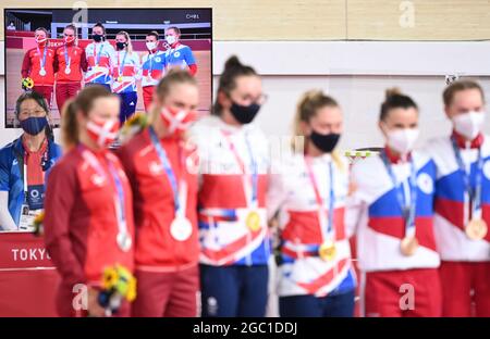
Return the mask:
M 174 66 L 196 76 L 198 110 L 208 113 L 211 17 L 211 9 L 5 9 L 5 126 L 19 127 L 15 102 L 26 90 L 45 96 L 51 123 L 59 126 L 63 103 L 94 81 L 114 92 L 133 91 L 128 104 L 144 112 L 146 87 Z M 94 34 L 100 29 L 102 37 Z M 124 45 L 124 53 L 121 40 L 131 46 Z

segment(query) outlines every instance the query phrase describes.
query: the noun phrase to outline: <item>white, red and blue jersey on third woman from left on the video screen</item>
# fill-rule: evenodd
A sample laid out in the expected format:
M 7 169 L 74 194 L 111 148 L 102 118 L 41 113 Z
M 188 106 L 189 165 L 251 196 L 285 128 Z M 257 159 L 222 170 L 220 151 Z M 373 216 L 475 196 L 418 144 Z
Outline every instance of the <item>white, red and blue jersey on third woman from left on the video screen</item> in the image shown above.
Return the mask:
M 85 84 L 106 84 L 112 81 L 111 70 L 117 64 L 115 51 L 108 41 L 88 43 L 85 48 L 88 68 L 85 73 Z

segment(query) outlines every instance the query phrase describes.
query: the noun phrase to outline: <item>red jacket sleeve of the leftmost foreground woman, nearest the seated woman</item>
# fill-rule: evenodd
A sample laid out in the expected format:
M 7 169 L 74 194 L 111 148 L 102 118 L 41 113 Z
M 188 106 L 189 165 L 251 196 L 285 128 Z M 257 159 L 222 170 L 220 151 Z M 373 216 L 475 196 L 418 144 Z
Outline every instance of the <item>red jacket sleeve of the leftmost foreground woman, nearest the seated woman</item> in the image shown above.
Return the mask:
M 54 165 L 45 196 L 45 242 L 58 272 L 70 286 L 86 282 L 69 234 L 70 214 L 77 194 L 76 168 L 66 162 Z

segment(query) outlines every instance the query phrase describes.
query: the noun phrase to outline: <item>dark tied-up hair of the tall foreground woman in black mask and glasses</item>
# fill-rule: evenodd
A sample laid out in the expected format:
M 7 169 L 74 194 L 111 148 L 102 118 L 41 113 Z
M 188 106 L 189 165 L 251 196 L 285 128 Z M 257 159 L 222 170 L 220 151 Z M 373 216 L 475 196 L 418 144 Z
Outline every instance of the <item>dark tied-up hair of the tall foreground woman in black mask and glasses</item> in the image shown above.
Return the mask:
M 230 56 L 230 59 L 224 63 L 224 71 L 220 76 L 218 93 L 223 92 L 229 97 L 230 92 L 236 87 L 236 78 L 247 75 L 258 74 L 253 67 L 242 64 L 236 55 Z M 213 115 L 221 115 L 222 111 L 223 108 L 221 106 L 217 98 L 211 113 Z

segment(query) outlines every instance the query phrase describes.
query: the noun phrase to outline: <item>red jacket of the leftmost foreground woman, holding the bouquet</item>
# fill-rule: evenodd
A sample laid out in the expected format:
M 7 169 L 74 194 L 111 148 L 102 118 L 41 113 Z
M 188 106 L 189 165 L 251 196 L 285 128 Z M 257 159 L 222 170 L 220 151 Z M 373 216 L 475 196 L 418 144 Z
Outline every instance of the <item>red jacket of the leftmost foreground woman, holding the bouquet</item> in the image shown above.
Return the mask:
M 83 152 L 93 154 L 102 171 L 97 171 Z M 113 201 L 119 196 L 110 168 L 117 171 L 124 192 L 125 225 L 133 239 L 127 251 L 117 241 L 119 222 Z M 45 213 L 46 248 L 62 279 L 58 309 L 66 316 L 73 314 L 72 289 L 76 284 L 100 286 L 103 269 L 114 264 L 133 271 L 133 196 L 118 158 L 107 150 L 93 152 L 82 147 L 66 153 L 47 178 Z

